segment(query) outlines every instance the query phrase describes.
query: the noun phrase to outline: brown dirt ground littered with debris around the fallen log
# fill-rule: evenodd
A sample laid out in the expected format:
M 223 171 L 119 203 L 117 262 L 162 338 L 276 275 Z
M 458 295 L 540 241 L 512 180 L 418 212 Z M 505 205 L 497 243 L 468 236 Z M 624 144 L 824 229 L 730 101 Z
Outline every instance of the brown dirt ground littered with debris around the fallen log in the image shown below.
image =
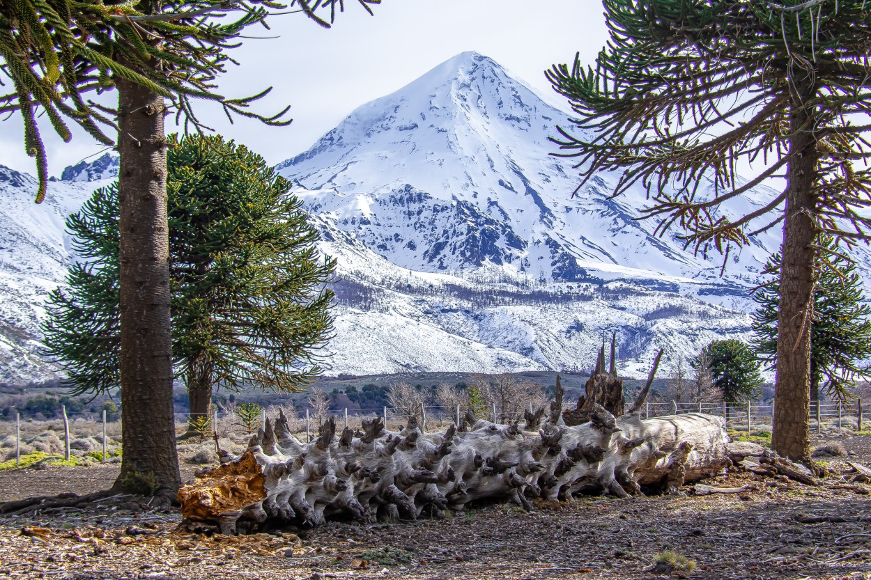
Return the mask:
M 858 460 L 871 437 L 828 434 Z M 0 500 L 105 488 L 117 465 L 0 472 Z M 186 469 L 192 469 L 186 467 Z M 179 532 L 179 514 L 107 501 L 0 517 L 0 578 L 291 580 L 324 578 L 655 578 L 655 557 L 695 561 L 685 578 L 871 578 L 871 486 L 829 462 L 820 487 L 733 470 L 707 483 L 740 494 L 589 498 L 533 513 L 483 505 L 443 520 L 226 537 Z M 868 521 L 862 517 L 868 516 Z M 808 518 L 815 517 L 811 522 Z M 827 520 L 827 521 L 820 521 Z M 834 520 L 834 521 L 832 521 Z M 847 522 L 838 520 L 848 520 Z

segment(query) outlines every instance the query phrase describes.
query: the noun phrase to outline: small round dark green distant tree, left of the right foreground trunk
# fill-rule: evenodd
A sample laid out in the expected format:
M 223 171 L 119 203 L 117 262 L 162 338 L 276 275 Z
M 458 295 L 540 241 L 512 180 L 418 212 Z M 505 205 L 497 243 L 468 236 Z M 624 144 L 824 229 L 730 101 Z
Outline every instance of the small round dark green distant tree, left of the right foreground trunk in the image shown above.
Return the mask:
M 755 354 L 744 342 L 712 341 L 702 349 L 699 358 L 710 361 L 713 386 L 723 393 L 724 401 L 751 401 L 759 397 L 762 375 Z

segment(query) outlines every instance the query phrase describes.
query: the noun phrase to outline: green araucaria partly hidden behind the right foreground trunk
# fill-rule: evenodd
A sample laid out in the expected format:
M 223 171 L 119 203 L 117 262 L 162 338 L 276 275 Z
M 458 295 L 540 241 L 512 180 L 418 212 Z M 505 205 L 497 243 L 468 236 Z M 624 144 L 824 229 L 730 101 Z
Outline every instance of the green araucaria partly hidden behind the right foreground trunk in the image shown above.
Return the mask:
M 820 388 L 845 400 L 853 382 L 868 377 L 862 361 L 871 357 L 871 307 L 865 302 L 862 280 L 854 262 L 835 253 L 824 237 L 820 246 L 829 252 L 817 257 L 820 276 L 814 286 L 811 320 L 811 401 Z M 753 293 L 759 308 L 753 313 L 754 346 L 764 361 L 777 361 L 777 322 L 780 307 L 780 253 L 769 260 L 766 272 L 774 275 Z

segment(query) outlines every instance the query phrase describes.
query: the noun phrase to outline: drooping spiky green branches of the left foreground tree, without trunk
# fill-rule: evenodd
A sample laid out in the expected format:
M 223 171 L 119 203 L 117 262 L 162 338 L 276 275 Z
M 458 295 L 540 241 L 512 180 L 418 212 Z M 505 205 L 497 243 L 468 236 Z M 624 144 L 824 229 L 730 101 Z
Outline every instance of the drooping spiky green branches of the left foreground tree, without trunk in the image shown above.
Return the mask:
M 381 0 L 358 1 L 371 13 L 369 4 Z M 287 5 L 326 27 L 336 10 L 344 9 L 343 0 L 290 0 Z M 266 25 L 271 13 L 287 5 L 270 0 L 0 0 L 0 77 L 9 78 L 12 88 L 0 95 L 0 113 L 20 111 L 24 119 L 24 147 L 37 158 L 37 203 L 48 182 L 38 115 L 44 111 L 64 141 L 72 137 L 66 119 L 98 142 L 113 145 L 105 129 L 117 130 L 116 111 L 94 104 L 86 94 L 111 89 L 114 78 L 171 99 L 185 123 L 199 125 L 192 98 L 217 101 L 228 115 L 260 118 L 271 125 L 290 123 L 284 119 L 287 108 L 270 117 L 248 109 L 269 89 L 253 97 L 228 98 L 215 83 L 233 62 L 226 51 L 238 46 L 243 30 Z M 328 16 L 319 16 L 324 11 Z

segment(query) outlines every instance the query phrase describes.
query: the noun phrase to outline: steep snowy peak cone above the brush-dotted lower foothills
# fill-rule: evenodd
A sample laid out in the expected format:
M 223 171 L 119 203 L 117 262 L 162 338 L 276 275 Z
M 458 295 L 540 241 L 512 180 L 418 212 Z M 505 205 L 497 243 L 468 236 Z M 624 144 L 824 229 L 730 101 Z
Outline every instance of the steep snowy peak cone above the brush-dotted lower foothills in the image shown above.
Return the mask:
M 562 281 L 619 266 L 721 283 L 721 256 L 694 255 L 653 236 L 654 222 L 635 220 L 640 187 L 609 199 L 617 178 L 604 173 L 571 196 L 576 172 L 550 155 L 548 140 L 566 117 L 490 58 L 466 52 L 361 106 L 279 168 L 317 190 L 311 212 L 400 266 L 490 264 Z M 759 188 L 733 209 L 772 195 Z M 775 233 L 734 253 L 726 281 L 753 285 L 778 243 Z

